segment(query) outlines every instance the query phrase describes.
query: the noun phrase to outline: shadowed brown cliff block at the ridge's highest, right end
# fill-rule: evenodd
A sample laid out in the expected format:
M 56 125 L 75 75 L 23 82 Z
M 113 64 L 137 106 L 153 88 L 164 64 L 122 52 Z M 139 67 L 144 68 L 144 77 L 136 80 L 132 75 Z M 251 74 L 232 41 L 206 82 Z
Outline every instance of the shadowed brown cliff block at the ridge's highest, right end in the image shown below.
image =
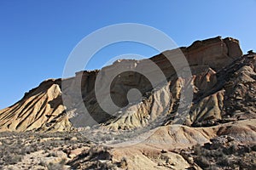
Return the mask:
M 209 65 L 214 71 L 222 69 L 242 55 L 239 42 L 230 37 L 196 41 L 189 48 L 184 48 L 183 53 L 190 65 Z

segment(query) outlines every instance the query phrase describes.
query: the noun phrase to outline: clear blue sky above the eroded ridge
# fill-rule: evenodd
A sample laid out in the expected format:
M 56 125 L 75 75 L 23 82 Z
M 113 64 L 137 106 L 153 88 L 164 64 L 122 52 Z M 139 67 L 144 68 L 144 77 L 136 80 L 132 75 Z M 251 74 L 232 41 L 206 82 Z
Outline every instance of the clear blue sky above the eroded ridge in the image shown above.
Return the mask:
M 246 53 L 256 51 L 255 9 L 255 0 L 1 0 L 0 109 L 45 79 L 61 77 L 75 45 L 103 26 L 126 22 L 154 26 L 178 46 L 208 37 L 235 37 Z M 127 53 L 150 57 L 155 51 L 117 45 L 102 50 L 89 68 L 100 68 L 105 57 Z

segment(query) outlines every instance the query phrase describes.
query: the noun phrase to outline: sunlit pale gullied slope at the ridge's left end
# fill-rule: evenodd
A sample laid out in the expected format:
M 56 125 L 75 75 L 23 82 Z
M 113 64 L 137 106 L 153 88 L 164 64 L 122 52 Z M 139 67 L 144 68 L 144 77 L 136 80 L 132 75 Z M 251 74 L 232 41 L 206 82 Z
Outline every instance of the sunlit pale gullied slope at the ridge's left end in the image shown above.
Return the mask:
M 49 79 L 26 93 L 15 105 L 0 111 L 0 131 L 71 129 L 61 100 L 61 79 Z

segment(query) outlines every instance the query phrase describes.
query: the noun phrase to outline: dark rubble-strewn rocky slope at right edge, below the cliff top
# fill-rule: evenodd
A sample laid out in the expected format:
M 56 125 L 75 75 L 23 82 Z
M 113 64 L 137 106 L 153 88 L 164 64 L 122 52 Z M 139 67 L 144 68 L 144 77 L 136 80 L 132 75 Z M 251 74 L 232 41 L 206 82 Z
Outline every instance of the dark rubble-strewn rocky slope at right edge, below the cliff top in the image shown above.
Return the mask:
M 255 118 L 255 56 L 244 55 L 216 73 L 217 82 L 201 96 L 195 95 L 190 121 L 194 126 Z

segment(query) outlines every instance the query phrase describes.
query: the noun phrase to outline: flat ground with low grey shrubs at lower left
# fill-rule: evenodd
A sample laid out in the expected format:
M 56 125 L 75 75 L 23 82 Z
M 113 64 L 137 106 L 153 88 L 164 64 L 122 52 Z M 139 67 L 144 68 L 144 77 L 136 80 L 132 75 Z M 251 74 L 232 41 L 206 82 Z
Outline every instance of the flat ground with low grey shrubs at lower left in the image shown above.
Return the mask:
M 56 151 L 61 151 L 67 156 L 71 150 L 88 146 L 88 139 L 81 133 L 0 133 L 0 169 L 9 165 L 17 165 L 23 162 L 26 156 L 37 151 L 42 151 L 44 157 L 58 157 Z M 34 159 L 32 157 L 32 159 Z M 62 169 L 66 164 L 65 159 L 60 162 L 52 163 L 44 160 L 38 160 L 38 166 L 48 169 Z M 26 161 L 25 161 L 26 162 Z M 26 162 L 27 163 L 27 162 Z M 22 164 L 22 163 L 21 163 Z M 33 166 L 33 165 L 31 165 Z M 21 168 L 28 168 L 20 165 Z

